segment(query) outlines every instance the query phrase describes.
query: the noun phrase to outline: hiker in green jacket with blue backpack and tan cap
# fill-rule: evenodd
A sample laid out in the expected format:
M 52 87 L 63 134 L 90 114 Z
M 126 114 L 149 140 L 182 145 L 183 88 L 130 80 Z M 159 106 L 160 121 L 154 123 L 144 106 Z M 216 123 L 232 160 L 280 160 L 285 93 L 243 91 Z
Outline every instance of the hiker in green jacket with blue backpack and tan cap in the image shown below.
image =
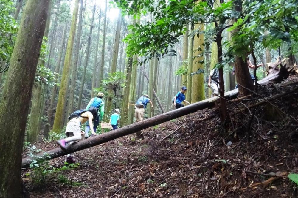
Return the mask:
M 104 114 L 104 109 L 105 109 L 105 103 L 103 102 L 103 96 L 104 94 L 101 92 L 98 92 L 97 97 L 92 98 L 90 102 L 88 103 L 86 110 L 88 110 L 90 107 L 96 107 L 97 108 L 97 116 L 93 120 L 93 129 L 96 131 L 97 126 L 99 125 L 99 122 L 103 120 L 103 114 Z M 85 128 L 85 138 L 89 137 L 89 130 L 90 130 L 90 125 L 89 121 L 86 122 L 86 128 Z

